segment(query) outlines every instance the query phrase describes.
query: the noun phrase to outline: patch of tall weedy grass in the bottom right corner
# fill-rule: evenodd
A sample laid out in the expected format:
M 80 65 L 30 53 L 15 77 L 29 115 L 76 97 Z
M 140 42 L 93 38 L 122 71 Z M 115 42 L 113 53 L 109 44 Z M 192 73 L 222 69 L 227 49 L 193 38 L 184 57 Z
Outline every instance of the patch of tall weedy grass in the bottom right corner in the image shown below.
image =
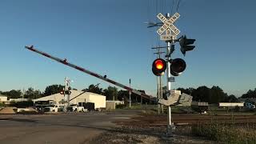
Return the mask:
M 224 143 L 256 143 L 255 124 L 198 124 L 191 128 L 192 134 Z

